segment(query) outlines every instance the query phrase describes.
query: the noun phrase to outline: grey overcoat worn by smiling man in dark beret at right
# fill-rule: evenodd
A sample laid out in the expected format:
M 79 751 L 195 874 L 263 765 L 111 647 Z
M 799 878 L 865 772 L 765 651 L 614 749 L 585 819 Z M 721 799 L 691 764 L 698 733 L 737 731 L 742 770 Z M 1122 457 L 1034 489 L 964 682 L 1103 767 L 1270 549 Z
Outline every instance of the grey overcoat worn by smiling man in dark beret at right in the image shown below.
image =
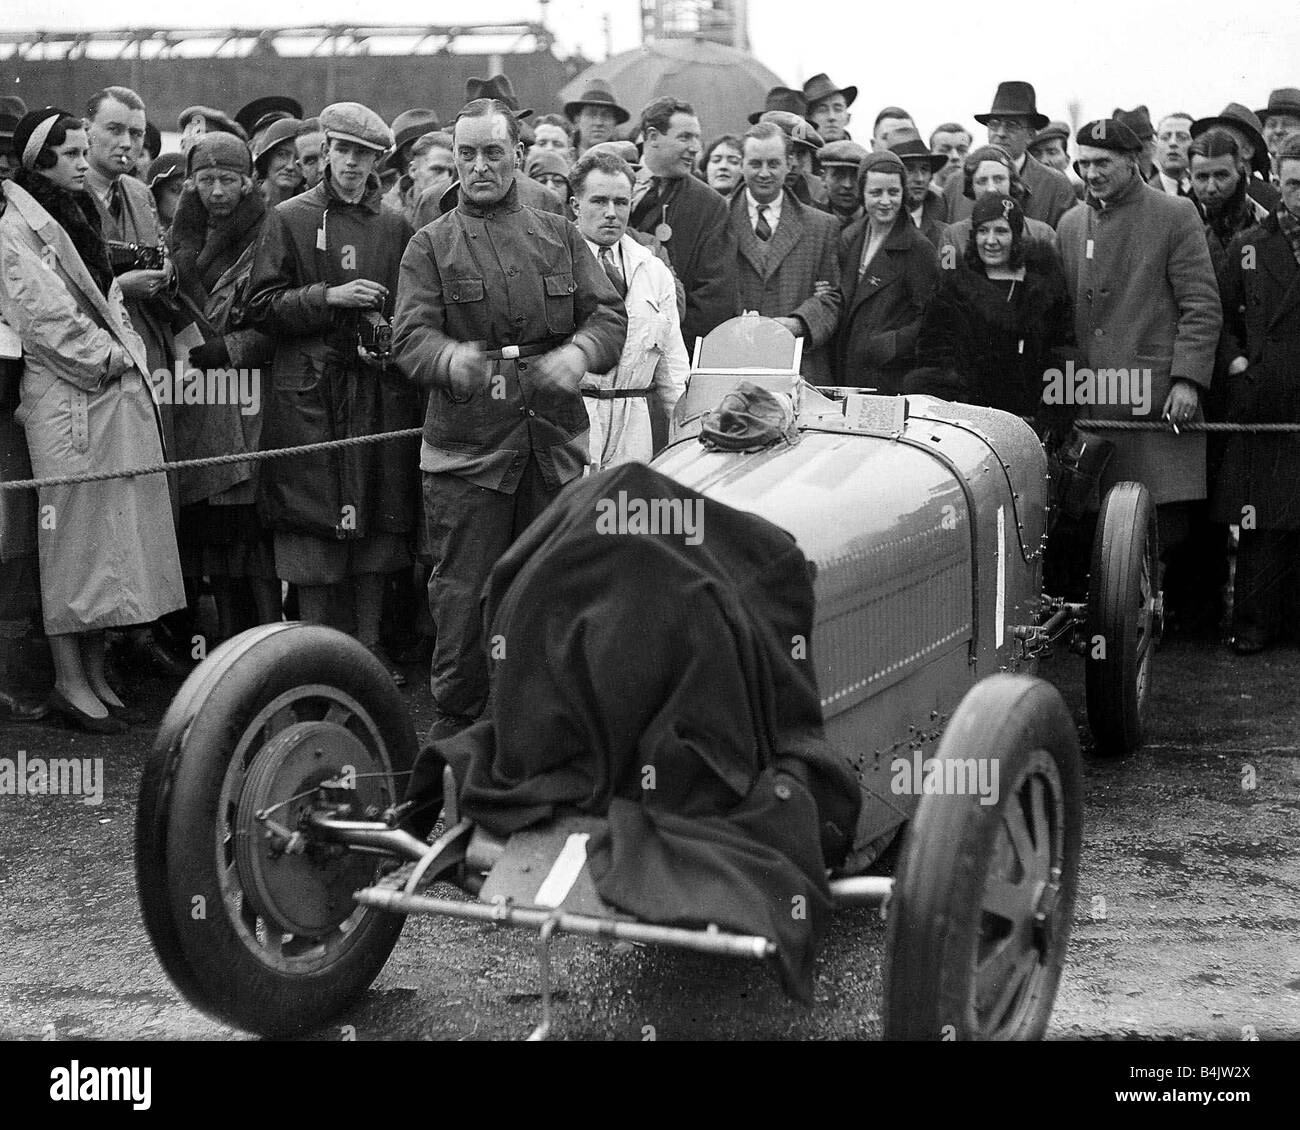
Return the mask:
M 1080 407 L 1084 419 L 1156 420 L 1173 377 L 1201 395 L 1214 374 L 1223 324 L 1218 286 L 1196 205 L 1134 177 L 1105 207 L 1080 204 L 1057 229 L 1074 299 L 1075 339 L 1088 368 L 1138 369 L 1140 404 Z M 1115 454 L 1102 492 L 1144 482 L 1157 503 L 1205 498 L 1204 434 L 1108 433 Z

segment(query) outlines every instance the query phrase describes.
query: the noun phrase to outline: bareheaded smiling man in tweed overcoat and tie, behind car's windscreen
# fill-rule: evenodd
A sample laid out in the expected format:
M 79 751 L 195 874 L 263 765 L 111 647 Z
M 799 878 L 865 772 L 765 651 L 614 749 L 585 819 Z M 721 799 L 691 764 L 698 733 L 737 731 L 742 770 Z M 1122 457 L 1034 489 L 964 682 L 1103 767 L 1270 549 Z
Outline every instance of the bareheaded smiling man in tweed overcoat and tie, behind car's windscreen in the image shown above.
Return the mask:
M 775 122 L 745 133 L 745 187 L 729 202 L 736 289 L 742 312 L 776 319 L 803 338 L 800 372 L 814 385 L 828 385 L 829 342 L 840 320 L 840 225 L 785 186 L 792 146 Z

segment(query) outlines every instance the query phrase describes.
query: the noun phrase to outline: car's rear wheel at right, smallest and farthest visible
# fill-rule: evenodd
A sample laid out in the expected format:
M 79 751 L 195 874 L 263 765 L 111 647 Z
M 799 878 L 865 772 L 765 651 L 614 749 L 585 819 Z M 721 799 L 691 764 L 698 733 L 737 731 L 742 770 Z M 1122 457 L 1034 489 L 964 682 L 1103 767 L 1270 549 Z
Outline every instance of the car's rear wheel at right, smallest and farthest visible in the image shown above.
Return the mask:
M 1097 516 L 1088 579 L 1088 726 L 1102 757 L 1143 742 L 1161 631 L 1156 507 L 1140 482 L 1118 482 Z

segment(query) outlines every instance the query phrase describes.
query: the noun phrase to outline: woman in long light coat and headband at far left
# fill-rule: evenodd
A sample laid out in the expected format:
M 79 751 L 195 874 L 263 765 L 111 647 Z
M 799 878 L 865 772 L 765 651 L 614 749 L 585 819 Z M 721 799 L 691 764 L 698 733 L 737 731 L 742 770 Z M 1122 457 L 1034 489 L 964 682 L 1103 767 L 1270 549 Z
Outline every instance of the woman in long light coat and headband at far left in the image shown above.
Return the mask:
M 162 460 L 144 345 L 131 328 L 84 191 L 86 131 L 48 108 L 14 130 L 4 185 L 0 312 L 22 341 L 14 419 L 38 479 Z M 84 729 L 125 728 L 104 676 L 104 629 L 183 607 L 166 477 L 39 493 L 40 598 L 55 659 L 51 706 Z

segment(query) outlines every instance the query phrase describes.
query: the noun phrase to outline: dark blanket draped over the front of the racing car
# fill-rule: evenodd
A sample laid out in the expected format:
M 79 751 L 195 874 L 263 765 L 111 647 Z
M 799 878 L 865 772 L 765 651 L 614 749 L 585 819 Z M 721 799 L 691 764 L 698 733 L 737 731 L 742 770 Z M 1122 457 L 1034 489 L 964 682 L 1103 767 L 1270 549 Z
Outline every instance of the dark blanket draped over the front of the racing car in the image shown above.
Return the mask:
M 637 532 L 647 511 L 658 532 Z M 822 733 L 812 611 L 811 567 L 772 523 L 641 464 L 580 480 L 494 571 L 493 702 L 420 778 L 446 758 L 498 836 L 607 817 L 589 844 L 604 901 L 772 938 L 807 1000 L 859 805 Z

